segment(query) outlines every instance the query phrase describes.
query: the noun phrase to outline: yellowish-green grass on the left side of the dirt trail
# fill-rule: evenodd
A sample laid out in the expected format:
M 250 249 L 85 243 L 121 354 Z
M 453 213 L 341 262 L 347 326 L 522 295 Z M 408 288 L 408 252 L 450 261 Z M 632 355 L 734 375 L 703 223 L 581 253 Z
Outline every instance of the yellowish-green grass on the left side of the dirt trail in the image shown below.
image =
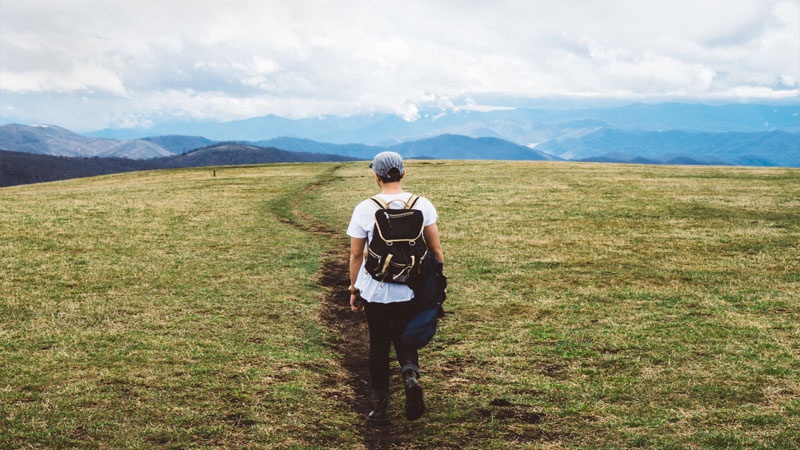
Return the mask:
M 272 208 L 318 170 L 4 189 L 0 447 L 354 443 L 321 248 Z

